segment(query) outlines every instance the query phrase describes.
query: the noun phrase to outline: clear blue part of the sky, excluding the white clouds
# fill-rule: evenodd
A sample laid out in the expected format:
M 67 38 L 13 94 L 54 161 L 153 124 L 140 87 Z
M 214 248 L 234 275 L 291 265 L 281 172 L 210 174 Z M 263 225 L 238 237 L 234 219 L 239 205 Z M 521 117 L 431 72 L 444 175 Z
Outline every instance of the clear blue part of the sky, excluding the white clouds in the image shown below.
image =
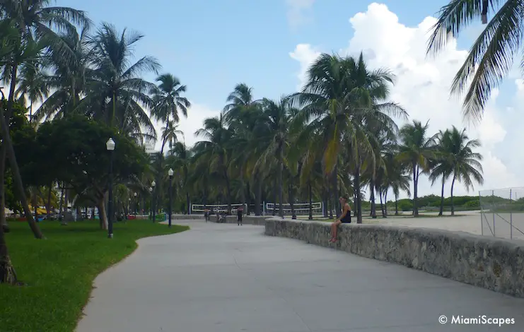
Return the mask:
M 125 5 L 123 5 L 125 3 Z M 59 0 L 83 9 L 95 21 L 145 35 L 136 55 L 157 57 L 163 71 L 187 84 L 187 96 L 213 109 L 223 107 L 234 85 L 245 82 L 257 97 L 279 97 L 296 88 L 298 64 L 288 54 L 303 42 L 337 51 L 351 37 L 350 16 L 370 1 L 316 1 L 308 24 L 291 27 L 285 0 Z M 402 23 L 416 25 L 446 1 L 380 1 Z M 154 76 L 149 76 L 153 79 Z

